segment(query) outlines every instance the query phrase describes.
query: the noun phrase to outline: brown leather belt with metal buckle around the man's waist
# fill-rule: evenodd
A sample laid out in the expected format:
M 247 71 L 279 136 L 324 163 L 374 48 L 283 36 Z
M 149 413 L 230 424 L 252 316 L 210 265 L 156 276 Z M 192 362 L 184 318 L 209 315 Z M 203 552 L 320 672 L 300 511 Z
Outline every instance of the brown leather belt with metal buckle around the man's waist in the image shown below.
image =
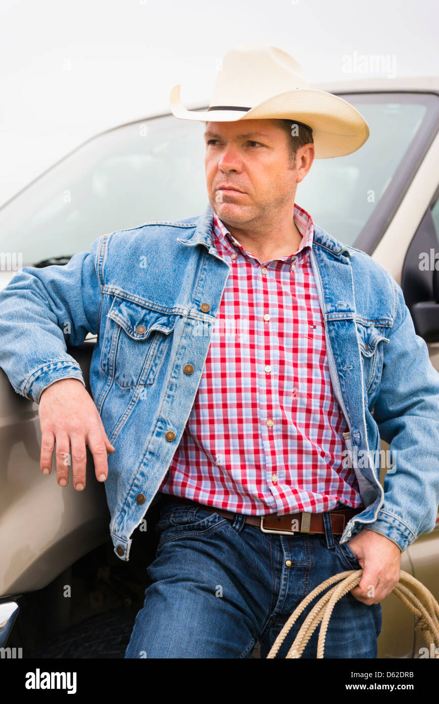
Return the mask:
M 188 505 L 202 508 L 208 513 L 217 513 L 224 518 L 234 519 L 236 513 L 226 511 L 215 506 L 207 506 L 204 503 L 192 501 L 190 498 L 182 496 L 172 496 L 172 494 L 164 494 L 165 503 L 186 503 Z M 345 529 L 345 525 L 350 521 L 352 516 L 364 510 L 364 506 L 360 508 L 333 508 L 328 511 L 331 518 L 332 532 L 334 535 L 341 535 Z M 285 535 L 297 535 L 301 533 L 323 533 L 324 522 L 323 513 L 286 513 L 278 516 L 277 513 L 268 513 L 262 516 L 246 515 L 246 523 L 257 526 L 263 533 L 281 533 Z

